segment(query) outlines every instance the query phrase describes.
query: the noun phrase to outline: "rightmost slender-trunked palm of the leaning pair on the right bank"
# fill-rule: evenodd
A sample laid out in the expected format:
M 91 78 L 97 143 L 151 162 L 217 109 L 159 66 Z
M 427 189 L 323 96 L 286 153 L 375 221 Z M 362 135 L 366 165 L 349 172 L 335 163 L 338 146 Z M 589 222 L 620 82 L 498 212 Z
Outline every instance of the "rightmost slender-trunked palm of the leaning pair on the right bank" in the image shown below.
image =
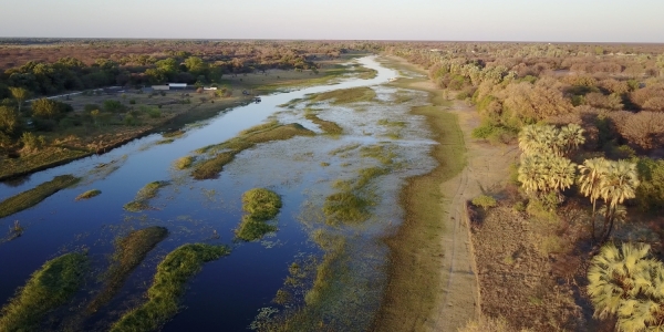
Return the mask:
M 609 238 L 613 229 L 616 206 L 625 199 L 636 197 L 637 186 L 636 164 L 627 160 L 618 160 L 610 164 L 606 175 L 600 181 L 600 197 L 609 206 L 604 214 L 604 224 L 609 224 L 609 227 L 605 229 L 603 241 Z

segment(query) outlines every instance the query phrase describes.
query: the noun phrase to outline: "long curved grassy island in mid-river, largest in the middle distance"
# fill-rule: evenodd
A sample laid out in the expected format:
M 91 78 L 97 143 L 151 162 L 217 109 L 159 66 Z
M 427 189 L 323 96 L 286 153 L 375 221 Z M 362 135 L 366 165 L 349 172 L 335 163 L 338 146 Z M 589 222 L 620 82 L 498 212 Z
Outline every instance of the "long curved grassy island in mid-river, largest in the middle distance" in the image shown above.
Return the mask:
M 249 149 L 257 144 L 272 141 L 286 141 L 294 136 L 313 136 L 312 131 L 302 125 L 291 123 L 280 125 L 277 122 L 270 122 L 263 125 L 255 126 L 240 134 L 238 137 L 226 141 L 221 144 L 208 145 L 196 152 L 199 154 L 209 154 L 211 158 L 201 160 L 194 165 L 191 176 L 195 179 L 210 179 L 219 176 L 226 164 L 232 162 L 235 156 L 245 149 Z

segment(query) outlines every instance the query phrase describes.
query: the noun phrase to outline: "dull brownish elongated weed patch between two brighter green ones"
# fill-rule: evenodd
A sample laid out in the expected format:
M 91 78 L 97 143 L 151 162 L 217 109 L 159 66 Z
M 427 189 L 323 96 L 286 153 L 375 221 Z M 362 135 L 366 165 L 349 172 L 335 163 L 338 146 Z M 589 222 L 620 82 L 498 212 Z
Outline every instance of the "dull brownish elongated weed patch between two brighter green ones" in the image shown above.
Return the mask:
M 123 286 L 132 271 L 145 259 L 157 243 L 168 236 L 165 227 L 153 226 L 129 232 L 115 242 L 113 262 L 105 273 L 103 290 L 90 302 L 85 311 L 92 313 L 107 303 Z

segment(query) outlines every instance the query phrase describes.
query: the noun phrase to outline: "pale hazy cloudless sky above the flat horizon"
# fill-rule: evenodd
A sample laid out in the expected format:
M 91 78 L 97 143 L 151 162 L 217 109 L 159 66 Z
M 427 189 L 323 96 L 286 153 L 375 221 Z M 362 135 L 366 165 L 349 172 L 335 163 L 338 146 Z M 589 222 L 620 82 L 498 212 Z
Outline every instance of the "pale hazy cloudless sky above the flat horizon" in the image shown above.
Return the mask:
M 664 42 L 663 0 L 0 0 L 0 37 Z

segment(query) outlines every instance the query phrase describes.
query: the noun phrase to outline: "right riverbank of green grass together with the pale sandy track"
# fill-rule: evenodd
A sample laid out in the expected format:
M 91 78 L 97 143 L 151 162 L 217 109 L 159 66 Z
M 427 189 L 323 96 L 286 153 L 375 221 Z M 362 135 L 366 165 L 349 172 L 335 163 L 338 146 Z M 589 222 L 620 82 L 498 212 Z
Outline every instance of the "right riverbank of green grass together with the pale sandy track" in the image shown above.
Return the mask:
M 473 141 L 478 114 L 447 101 L 424 70 L 398 58 L 383 64 L 422 75 L 393 85 L 429 93 L 432 105 L 412 112 L 426 116 L 437 136 L 432 156 L 439 165 L 411 178 L 402 191 L 406 218 L 386 239 L 390 283 L 373 330 L 456 331 L 480 312 L 465 203 L 501 185 L 515 152 Z

